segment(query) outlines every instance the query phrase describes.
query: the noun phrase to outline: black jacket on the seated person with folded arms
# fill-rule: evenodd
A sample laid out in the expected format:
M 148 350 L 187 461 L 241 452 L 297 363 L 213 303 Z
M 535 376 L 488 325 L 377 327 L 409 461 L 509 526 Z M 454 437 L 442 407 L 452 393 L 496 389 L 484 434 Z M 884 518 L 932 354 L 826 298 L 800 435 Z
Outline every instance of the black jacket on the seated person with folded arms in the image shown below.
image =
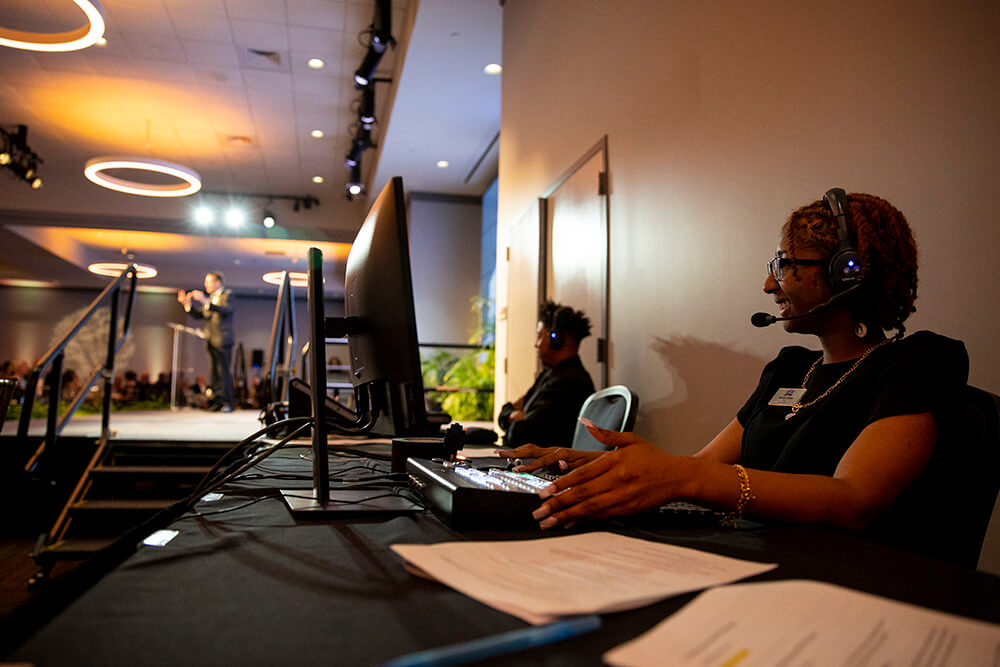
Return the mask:
M 506 431 L 505 444 L 517 447 L 571 447 L 576 419 L 583 402 L 594 393 L 594 382 L 580 357 L 570 357 L 546 368 L 524 395 L 524 419 L 511 422 L 514 406 L 507 403 L 497 422 Z

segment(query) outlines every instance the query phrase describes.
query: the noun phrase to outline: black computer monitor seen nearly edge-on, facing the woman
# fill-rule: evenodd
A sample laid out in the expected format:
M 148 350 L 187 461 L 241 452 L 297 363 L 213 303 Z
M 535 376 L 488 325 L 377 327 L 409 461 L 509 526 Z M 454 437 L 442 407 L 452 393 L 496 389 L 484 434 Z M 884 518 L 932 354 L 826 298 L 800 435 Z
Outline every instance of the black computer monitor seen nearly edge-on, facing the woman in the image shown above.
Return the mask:
M 379 193 L 347 257 L 344 311 L 351 382 L 384 436 L 428 435 L 413 307 L 403 179 Z

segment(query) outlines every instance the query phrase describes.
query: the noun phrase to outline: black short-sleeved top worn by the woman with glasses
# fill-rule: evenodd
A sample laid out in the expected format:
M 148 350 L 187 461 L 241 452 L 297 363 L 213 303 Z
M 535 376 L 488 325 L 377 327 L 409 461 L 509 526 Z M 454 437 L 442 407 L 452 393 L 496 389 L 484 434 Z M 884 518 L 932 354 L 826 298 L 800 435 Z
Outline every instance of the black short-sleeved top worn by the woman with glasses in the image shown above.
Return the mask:
M 967 562 L 970 554 L 956 553 L 959 536 L 950 535 L 948 526 L 934 525 L 945 522 L 954 530 L 961 529 L 951 516 L 962 510 L 952 506 L 952 497 L 962 494 L 951 492 L 963 483 L 960 443 L 952 440 L 968 381 L 965 345 L 929 331 L 882 345 L 828 396 L 785 419 L 790 407 L 768 402 L 779 388 L 801 387 L 821 356 L 822 352 L 803 347 L 786 347 L 764 367 L 757 389 L 737 413 L 744 429 L 742 463 L 760 470 L 832 476 L 844 452 L 868 424 L 930 412 L 937 423 L 938 440 L 926 469 L 861 532 L 875 541 Z M 799 402 L 806 404 L 822 395 L 855 361 L 821 363 Z M 931 534 L 929 526 L 933 526 Z

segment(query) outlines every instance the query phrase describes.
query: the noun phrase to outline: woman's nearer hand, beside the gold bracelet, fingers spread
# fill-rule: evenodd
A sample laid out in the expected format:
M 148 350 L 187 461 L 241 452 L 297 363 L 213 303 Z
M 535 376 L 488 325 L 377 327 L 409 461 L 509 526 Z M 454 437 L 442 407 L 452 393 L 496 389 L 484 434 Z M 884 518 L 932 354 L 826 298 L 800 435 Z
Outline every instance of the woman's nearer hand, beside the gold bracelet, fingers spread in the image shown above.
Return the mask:
M 634 433 L 583 423 L 599 442 L 618 449 L 600 453 L 541 491 L 547 500 L 532 516 L 542 529 L 577 519 L 634 514 L 685 495 L 693 467 L 700 465 L 697 459 L 667 454 Z

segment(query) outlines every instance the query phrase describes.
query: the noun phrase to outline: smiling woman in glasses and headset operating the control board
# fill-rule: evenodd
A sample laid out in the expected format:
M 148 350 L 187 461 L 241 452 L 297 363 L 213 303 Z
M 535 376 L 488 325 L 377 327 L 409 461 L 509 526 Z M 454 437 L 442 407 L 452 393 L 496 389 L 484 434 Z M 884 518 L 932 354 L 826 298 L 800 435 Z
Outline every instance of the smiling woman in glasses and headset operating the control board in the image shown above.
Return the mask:
M 534 516 L 542 528 L 678 499 L 730 518 L 825 524 L 974 565 L 978 549 L 956 545 L 976 462 L 949 437 L 967 382 L 965 346 L 928 331 L 903 338 L 917 291 L 906 219 L 878 197 L 836 192 L 792 213 L 763 285 L 785 331 L 816 336 L 822 351 L 783 348 L 735 419 L 694 456 L 590 426 L 617 449 L 500 451 L 538 457 L 517 469 L 570 471 L 541 493 Z M 839 279 L 853 266 L 839 261 L 845 250 L 854 254 L 839 259 L 860 263 L 860 282 Z

